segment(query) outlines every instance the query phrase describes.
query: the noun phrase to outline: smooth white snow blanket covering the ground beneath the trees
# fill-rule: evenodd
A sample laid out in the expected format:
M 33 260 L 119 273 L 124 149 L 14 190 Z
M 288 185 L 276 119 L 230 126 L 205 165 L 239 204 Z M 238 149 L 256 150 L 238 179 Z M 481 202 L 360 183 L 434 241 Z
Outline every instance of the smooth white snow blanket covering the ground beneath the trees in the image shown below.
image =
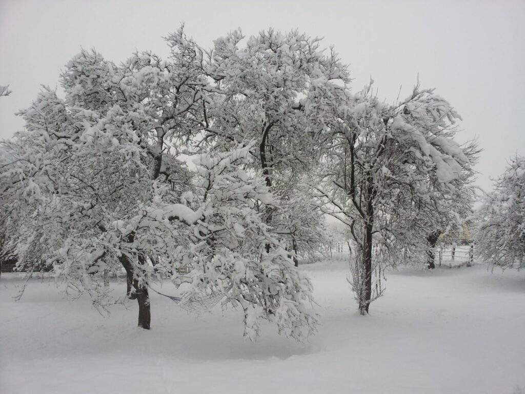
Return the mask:
M 50 281 L 35 279 L 14 302 L 22 281 L 3 276 L 0 392 L 525 393 L 524 272 L 404 268 L 388 273 L 385 296 L 362 317 L 347 264 L 301 269 L 323 323 L 306 344 L 271 325 L 245 342 L 238 311 L 196 319 L 157 294 L 150 331 L 135 327 L 134 301 L 104 318 Z

